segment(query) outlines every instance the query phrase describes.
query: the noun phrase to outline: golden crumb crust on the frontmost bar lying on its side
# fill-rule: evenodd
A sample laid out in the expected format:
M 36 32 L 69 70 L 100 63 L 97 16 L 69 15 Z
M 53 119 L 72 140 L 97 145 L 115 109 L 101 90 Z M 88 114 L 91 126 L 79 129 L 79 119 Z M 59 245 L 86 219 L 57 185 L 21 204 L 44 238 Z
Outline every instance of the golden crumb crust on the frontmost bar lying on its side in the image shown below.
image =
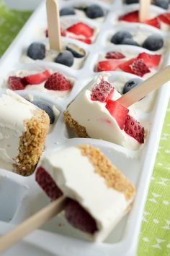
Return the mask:
M 135 187 L 99 149 L 91 145 L 79 145 L 78 148 L 81 150 L 82 155 L 89 158 L 95 168 L 95 173 L 105 179 L 108 187 L 122 192 L 127 200 L 130 200 L 135 195 Z

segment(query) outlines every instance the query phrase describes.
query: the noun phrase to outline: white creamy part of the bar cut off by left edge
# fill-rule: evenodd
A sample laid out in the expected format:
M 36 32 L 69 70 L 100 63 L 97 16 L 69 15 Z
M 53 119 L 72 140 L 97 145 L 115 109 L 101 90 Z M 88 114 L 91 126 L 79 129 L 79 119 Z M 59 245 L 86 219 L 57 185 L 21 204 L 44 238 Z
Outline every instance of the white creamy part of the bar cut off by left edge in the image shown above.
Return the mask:
M 24 121 L 34 116 L 36 107 L 11 90 L 0 98 L 0 166 L 12 169 L 19 155 L 19 140 L 26 131 Z

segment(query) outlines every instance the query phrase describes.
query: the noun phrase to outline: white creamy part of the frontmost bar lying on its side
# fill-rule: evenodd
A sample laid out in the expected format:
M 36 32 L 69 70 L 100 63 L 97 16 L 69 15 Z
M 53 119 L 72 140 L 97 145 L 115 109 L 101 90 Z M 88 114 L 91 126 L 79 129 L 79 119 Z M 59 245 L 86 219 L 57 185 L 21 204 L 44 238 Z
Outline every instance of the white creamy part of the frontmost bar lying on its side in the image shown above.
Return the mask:
M 66 197 L 79 202 L 95 219 L 98 231 L 93 238 L 96 241 L 108 236 L 133 201 L 133 198 L 127 201 L 123 193 L 107 187 L 104 178 L 94 172 L 94 166 L 88 157 L 81 155 L 79 148 L 50 151 L 42 158 L 41 166 Z

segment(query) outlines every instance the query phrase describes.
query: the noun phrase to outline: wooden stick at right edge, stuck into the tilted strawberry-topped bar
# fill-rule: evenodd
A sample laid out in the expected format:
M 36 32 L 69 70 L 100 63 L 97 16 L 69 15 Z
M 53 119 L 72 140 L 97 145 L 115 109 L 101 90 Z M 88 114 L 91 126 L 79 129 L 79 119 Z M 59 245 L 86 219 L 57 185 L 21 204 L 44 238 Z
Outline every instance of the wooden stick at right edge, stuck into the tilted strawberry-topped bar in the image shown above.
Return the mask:
M 151 93 L 153 90 L 160 88 L 161 85 L 164 85 L 164 83 L 168 82 L 169 80 L 170 66 L 154 74 L 148 80 L 142 82 L 140 85 L 128 91 L 128 93 L 122 95 L 122 97 L 120 97 L 117 101 L 128 108 L 135 102 L 140 101 L 140 99 L 148 95 L 148 93 Z

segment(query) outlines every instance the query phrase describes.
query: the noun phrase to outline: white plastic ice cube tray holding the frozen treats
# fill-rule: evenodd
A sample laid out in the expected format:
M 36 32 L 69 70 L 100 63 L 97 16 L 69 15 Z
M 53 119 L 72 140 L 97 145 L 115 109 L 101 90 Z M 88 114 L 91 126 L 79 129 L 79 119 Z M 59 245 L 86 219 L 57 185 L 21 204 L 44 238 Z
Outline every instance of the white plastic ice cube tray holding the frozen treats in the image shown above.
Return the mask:
M 80 1 L 69 1 L 69 3 L 80 3 Z M 90 3 L 89 0 L 86 2 Z M 102 4 L 102 1 L 95 1 Z M 60 6 L 66 5 L 68 2 L 59 1 Z M 62 216 L 58 216 L 46 223 L 42 229 L 34 231 L 30 236 L 27 236 L 11 249 L 4 252 L 3 255 L 59 255 L 59 256 L 133 256 L 135 255 L 136 246 L 138 244 L 138 234 L 140 230 L 140 223 L 143 216 L 143 207 L 148 192 L 148 185 L 153 170 L 153 164 L 156 158 L 156 152 L 158 149 L 159 137 L 161 135 L 161 128 L 164 123 L 164 115 L 166 114 L 166 106 L 169 100 L 169 88 L 168 84 L 164 85 L 158 91 L 158 97 L 156 99 L 155 107 L 153 111 L 146 115 L 139 115 L 139 118 L 149 120 L 151 122 L 151 129 L 146 141 L 146 144 L 141 150 L 133 152 L 122 148 L 114 143 L 105 142 L 102 140 L 93 139 L 80 139 L 77 137 L 71 137 L 66 129 L 66 125 L 63 123 L 63 111 L 70 101 L 77 95 L 77 93 L 84 88 L 87 80 L 91 80 L 97 73 L 94 72 L 95 60 L 102 51 L 114 48 L 115 46 L 105 47 L 104 44 L 107 41 L 108 33 L 115 31 L 116 26 L 113 24 L 112 14 L 122 7 L 122 2 L 117 0 L 114 4 L 102 4 L 107 9 L 107 17 L 103 24 L 99 24 L 95 21 L 89 21 L 84 18 L 84 22 L 98 27 L 99 35 L 92 45 L 86 45 L 84 43 L 76 41 L 76 43 L 86 48 L 89 52 L 84 67 L 80 70 L 73 70 L 69 67 L 64 67 L 61 64 L 49 63 L 45 61 L 36 61 L 33 64 L 20 64 L 21 55 L 23 49 L 29 46 L 29 44 L 36 39 L 35 24 L 40 24 L 40 27 L 45 26 L 45 2 L 37 8 L 30 20 L 24 26 L 22 31 L 17 36 L 16 40 L 12 43 L 6 54 L 0 61 L 0 76 L 6 77 L 12 70 L 17 69 L 53 69 L 60 70 L 69 77 L 73 77 L 76 82 L 73 86 L 71 94 L 66 98 L 55 99 L 49 95 L 33 91 L 20 91 L 19 94 L 26 96 L 32 94 L 34 98 L 41 98 L 42 100 L 55 105 L 61 112 L 58 121 L 53 127 L 53 131 L 50 132 L 47 138 L 46 148 L 58 147 L 63 148 L 68 145 L 76 145 L 83 143 L 89 143 L 100 148 L 109 158 L 120 168 L 123 174 L 130 179 L 137 188 L 137 195 L 133 204 L 133 209 L 128 216 L 120 221 L 116 228 L 112 231 L 112 234 L 103 243 L 91 243 L 84 240 L 86 235 L 81 231 L 73 229 Z M 162 10 L 158 7 L 153 7 L 156 12 L 160 13 Z M 125 25 L 128 27 L 129 25 Z M 158 32 L 156 28 L 146 25 L 130 25 L 133 30 L 138 30 L 141 27 L 144 30 L 149 30 L 151 33 Z M 37 28 L 36 28 L 37 29 Z M 159 31 L 165 40 L 169 38 L 168 33 L 162 33 Z M 64 38 L 64 40 L 75 42 Z M 134 46 L 128 46 L 134 47 Z M 145 51 L 141 48 L 135 47 L 135 51 Z M 162 65 L 169 64 L 169 49 L 166 49 L 166 56 L 164 56 L 164 62 Z M 119 77 L 120 75 L 130 79 L 135 77 L 133 74 L 127 74 L 125 72 L 110 72 L 112 77 Z M 4 90 L 0 89 L 0 93 Z M 37 210 L 47 205 L 50 200 L 44 192 L 38 187 L 35 182 L 34 174 L 30 177 L 22 177 L 17 174 L 13 174 L 9 171 L 0 169 L 0 233 L 12 229 L 12 226 L 22 222 L 28 216 L 35 213 Z

